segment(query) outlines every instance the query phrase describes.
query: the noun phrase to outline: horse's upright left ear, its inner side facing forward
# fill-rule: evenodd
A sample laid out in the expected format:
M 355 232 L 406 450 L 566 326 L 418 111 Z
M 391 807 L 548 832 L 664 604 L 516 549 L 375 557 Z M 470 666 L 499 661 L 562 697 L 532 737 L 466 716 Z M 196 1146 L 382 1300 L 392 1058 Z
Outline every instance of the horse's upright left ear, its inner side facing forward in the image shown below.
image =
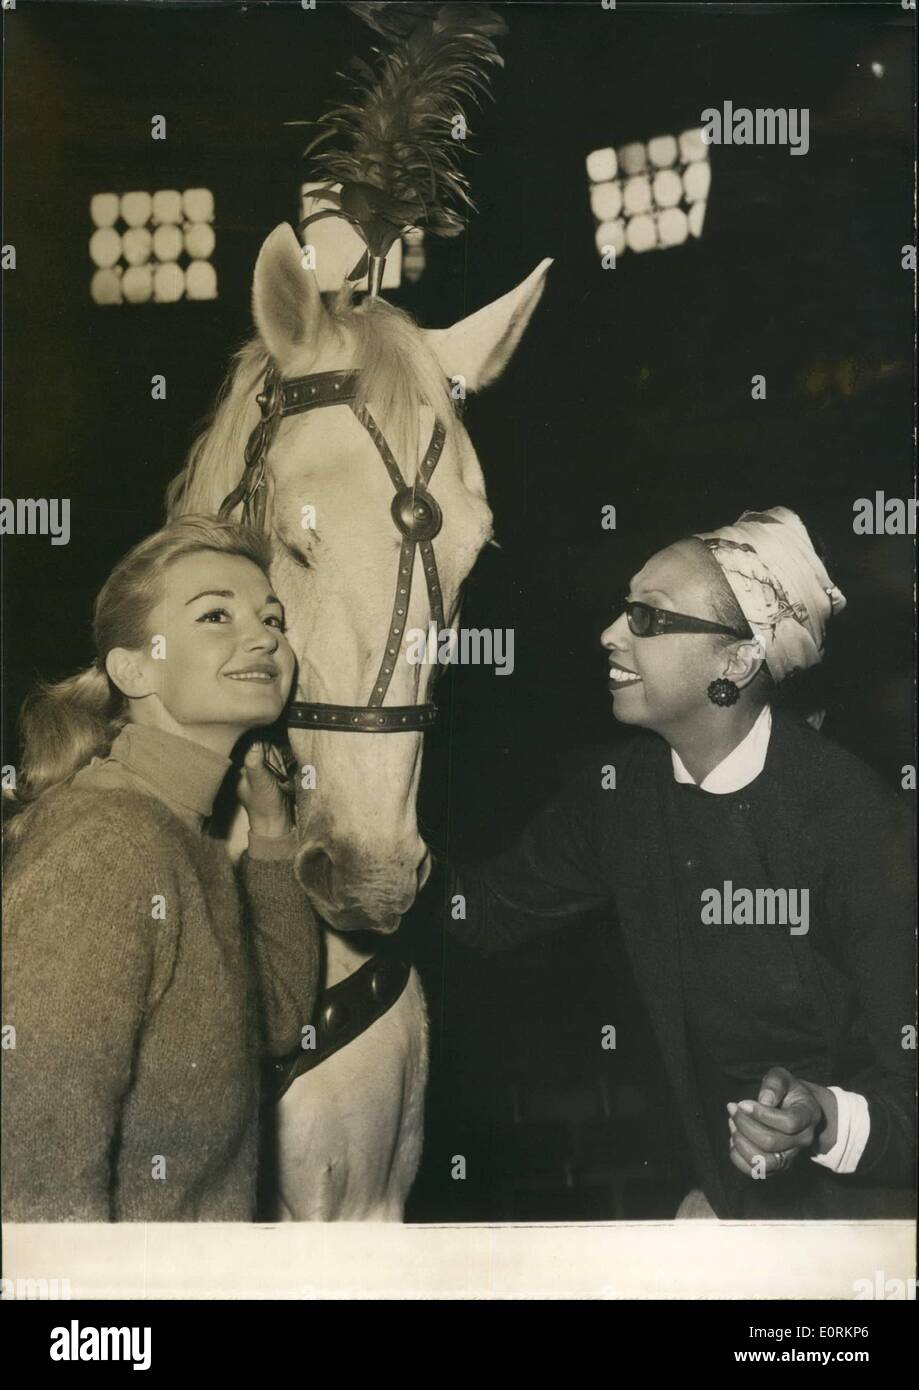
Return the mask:
M 284 368 L 293 357 L 303 359 L 310 348 L 318 353 L 328 331 L 328 314 L 316 271 L 306 265 L 303 247 L 289 222 L 275 227 L 259 252 L 252 313 L 278 367 Z

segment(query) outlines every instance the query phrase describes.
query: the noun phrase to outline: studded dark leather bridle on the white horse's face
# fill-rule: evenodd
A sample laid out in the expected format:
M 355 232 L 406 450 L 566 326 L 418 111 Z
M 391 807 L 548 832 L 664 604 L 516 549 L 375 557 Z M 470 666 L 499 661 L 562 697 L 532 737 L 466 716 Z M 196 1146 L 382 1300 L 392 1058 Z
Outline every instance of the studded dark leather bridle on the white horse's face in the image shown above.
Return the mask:
M 299 416 L 320 406 L 352 407 L 375 443 L 395 489 L 389 514 L 402 537 L 402 546 L 392 617 L 389 619 L 380 671 L 367 703 L 310 705 L 304 701 L 293 701 L 288 705 L 286 723 L 291 728 L 343 728 L 352 734 L 410 734 L 431 727 L 437 719 L 437 706 L 428 703 L 388 705 L 384 708 L 382 702 L 392 681 L 409 614 L 416 549 L 421 553 L 435 628 L 439 631 L 446 626 L 437 559 L 431 545 L 444 524 L 444 517 L 439 506 L 427 491 L 444 450 L 446 431 L 439 420 L 434 423 L 431 442 L 418 467 L 417 481 L 409 485 L 370 411 L 366 407 L 361 410 L 355 407 L 359 377 L 359 371 L 316 371 L 309 377 L 292 377 L 285 381 L 274 367 L 268 367 L 264 389 L 256 398 L 261 407 L 261 420 L 246 443 L 243 475 L 234 491 L 224 498 L 217 514 L 221 520 L 227 520 L 232 510 L 242 503 L 243 523 L 264 530 L 268 450 L 284 417 Z

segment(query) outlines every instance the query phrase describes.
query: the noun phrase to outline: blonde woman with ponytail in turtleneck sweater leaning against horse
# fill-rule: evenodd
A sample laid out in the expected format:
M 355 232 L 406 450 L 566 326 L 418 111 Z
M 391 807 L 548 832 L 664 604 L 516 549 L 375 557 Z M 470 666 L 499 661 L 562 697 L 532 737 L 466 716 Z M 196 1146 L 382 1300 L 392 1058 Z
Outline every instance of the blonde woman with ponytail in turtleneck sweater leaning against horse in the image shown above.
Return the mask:
M 252 1220 L 263 1051 L 300 1041 L 318 929 L 254 745 L 238 872 L 207 819 L 286 702 L 267 542 L 182 517 L 114 569 L 96 660 L 22 714 L 6 826 L 7 1220 Z M 13 1041 L 13 1045 L 10 1045 Z

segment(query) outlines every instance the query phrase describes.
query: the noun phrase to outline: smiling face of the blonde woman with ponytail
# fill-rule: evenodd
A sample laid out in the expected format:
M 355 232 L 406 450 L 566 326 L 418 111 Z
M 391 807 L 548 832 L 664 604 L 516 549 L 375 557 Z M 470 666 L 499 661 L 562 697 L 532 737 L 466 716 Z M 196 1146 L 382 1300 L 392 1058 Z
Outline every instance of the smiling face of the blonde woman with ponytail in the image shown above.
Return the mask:
M 189 737 L 195 727 L 241 735 L 274 723 L 295 667 L 268 580 L 252 560 L 217 550 L 168 566 L 142 663 L 149 694 Z

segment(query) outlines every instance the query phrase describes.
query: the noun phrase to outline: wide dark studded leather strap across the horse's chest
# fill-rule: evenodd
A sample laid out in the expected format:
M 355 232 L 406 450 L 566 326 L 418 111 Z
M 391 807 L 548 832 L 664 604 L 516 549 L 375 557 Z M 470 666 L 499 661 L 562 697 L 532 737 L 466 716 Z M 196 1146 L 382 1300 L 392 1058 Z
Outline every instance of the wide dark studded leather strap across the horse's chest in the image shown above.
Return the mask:
M 412 965 L 403 956 L 381 954 L 371 956 L 331 990 L 324 990 L 316 1011 L 316 1047 L 298 1048 L 285 1058 L 270 1058 L 264 1065 L 266 1090 L 274 1099 L 279 1101 L 299 1076 L 311 1072 L 381 1019 L 402 995 L 410 973 Z

